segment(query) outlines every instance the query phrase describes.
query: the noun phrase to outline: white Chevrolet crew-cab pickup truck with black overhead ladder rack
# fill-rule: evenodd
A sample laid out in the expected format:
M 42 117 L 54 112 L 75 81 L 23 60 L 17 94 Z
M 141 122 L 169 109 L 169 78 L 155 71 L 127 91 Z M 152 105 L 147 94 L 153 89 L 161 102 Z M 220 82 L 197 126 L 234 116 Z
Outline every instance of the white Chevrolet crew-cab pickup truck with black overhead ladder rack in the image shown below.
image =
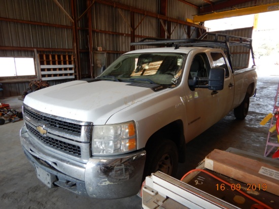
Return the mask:
M 186 143 L 233 109 L 244 119 L 256 90 L 255 67 L 233 71 L 228 47 L 252 51 L 252 41 L 216 36 L 228 40 L 134 43 L 175 47 L 131 51 L 95 79 L 28 94 L 20 140 L 37 177 L 50 188 L 122 198 L 151 172 L 175 175 Z M 216 43 L 228 56 L 200 47 Z

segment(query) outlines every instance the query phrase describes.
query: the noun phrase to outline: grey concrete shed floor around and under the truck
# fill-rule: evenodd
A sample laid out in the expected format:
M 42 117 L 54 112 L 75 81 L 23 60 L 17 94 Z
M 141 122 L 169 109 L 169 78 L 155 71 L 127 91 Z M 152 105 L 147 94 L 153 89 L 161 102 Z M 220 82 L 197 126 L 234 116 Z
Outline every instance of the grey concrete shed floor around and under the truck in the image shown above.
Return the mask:
M 214 149 L 233 147 L 263 155 L 268 125 L 259 123 L 273 110 L 278 81 L 278 73 L 260 76 L 257 95 L 250 100 L 250 111 L 245 120 L 235 120 L 231 112 L 188 143 L 187 162 L 180 164 L 177 178 L 195 168 Z M 14 109 L 21 109 L 22 105 L 17 97 L 1 102 L 10 103 Z M 141 208 L 141 198 L 137 196 L 103 200 L 78 196 L 61 188 L 48 189 L 37 179 L 21 149 L 19 130 L 22 124 L 21 120 L 0 126 L 0 208 Z

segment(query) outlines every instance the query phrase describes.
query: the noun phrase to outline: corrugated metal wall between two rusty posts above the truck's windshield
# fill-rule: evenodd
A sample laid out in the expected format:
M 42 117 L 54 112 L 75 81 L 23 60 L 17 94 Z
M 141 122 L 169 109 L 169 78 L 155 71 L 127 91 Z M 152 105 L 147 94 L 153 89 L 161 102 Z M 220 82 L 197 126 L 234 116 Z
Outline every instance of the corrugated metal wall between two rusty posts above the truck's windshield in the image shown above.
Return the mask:
M 151 12 L 157 12 L 157 2 L 157 0 L 149 1 L 148 4 L 146 4 L 144 1 L 121 1 L 122 4 L 139 9 L 147 9 Z M 157 18 L 134 13 L 134 22 L 135 27 L 137 26 L 135 29 L 136 42 L 143 39 L 143 37 L 158 37 Z M 130 11 L 102 4 L 94 4 L 92 29 L 93 50 L 97 50 L 97 47 L 102 47 L 102 50 L 110 51 L 108 64 L 111 64 L 112 61 L 115 60 L 109 57 L 119 57 L 122 53 L 130 51 Z M 117 51 L 119 51 L 119 53 L 114 53 Z

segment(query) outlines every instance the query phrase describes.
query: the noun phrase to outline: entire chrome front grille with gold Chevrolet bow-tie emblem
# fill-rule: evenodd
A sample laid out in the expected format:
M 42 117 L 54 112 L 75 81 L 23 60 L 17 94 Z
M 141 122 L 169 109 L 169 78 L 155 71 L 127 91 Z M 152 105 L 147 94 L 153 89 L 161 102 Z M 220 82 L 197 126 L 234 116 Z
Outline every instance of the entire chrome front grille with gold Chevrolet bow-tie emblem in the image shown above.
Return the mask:
M 91 122 L 46 114 L 25 104 L 23 117 L 28 134 L 42 149 L 83 163 L 91 156 Z

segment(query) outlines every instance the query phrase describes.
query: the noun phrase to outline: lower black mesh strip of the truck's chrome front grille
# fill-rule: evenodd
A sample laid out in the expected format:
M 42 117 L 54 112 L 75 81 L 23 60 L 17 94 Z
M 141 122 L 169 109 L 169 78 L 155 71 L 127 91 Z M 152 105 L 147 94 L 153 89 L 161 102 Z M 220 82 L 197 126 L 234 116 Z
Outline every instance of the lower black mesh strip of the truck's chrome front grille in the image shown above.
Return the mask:
M 64 152 L 73 153 L 74 155 L 81 155 L 81 148 L 76 145 L 72 145 L 69 143 L 62 142 L 60 140 L 56 140 L 55 138 L 44 136 L 38 130 L 32 128 L 30 125 L 26 124 L 26 128 L 34 135 L 36 138 L 41 140 L 48 146 L 52 146 L 56 149 L 62 150 Z

